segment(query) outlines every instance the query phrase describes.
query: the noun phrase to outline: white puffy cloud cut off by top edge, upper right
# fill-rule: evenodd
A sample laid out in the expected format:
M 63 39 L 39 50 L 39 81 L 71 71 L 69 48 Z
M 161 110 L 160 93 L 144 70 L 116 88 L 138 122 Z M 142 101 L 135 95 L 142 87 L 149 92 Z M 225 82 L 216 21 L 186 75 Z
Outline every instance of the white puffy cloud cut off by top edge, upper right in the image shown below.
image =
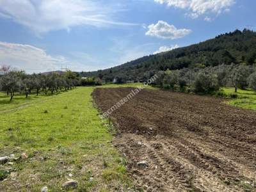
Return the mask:
M 188 15 L 197 18 L 205 13 L 220 14 L 227 12 L 235 0 L 154 0 L 156 3 L 167 4 L 175 8 L 188 10 Z

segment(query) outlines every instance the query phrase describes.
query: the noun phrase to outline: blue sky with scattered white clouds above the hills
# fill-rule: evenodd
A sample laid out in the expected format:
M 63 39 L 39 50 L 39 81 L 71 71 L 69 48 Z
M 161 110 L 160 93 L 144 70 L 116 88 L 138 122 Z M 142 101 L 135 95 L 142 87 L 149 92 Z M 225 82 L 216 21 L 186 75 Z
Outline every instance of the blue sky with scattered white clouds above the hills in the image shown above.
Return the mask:
M 256 29 L 253 0 L 0 0 L 0 66 L 93 71 Z

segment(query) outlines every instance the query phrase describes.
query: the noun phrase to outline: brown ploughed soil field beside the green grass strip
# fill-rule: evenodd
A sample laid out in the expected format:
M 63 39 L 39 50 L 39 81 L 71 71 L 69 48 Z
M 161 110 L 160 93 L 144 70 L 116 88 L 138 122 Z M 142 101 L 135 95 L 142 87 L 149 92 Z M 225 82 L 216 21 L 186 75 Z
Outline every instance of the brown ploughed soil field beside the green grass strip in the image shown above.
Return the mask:
M 102 111 L 132 88 L 97 88 Z M 256 191 L 256 113 L 213 97 L 143 90 L 112 113 L 114 145 L 147 191 Z M 147 161 L 148 167 L 138 167 Z

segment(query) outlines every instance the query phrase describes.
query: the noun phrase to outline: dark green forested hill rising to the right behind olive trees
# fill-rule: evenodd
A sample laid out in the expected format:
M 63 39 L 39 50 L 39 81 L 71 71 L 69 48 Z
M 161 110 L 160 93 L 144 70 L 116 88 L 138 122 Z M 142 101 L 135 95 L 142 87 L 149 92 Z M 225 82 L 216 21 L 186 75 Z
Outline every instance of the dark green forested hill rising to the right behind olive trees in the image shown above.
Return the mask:
M 124 80 L 148 79 L 159 70 L 209 67 L 223 63 L 246 63 L 251 65 L 256 59 L 256 32 L 244 29 L 216 36 L 199 44 L 181 47 L 168 52 L 145 56 L 123 65 L 83 72 L 82 76 L 97 76 L 105 81 L 114 77 Z

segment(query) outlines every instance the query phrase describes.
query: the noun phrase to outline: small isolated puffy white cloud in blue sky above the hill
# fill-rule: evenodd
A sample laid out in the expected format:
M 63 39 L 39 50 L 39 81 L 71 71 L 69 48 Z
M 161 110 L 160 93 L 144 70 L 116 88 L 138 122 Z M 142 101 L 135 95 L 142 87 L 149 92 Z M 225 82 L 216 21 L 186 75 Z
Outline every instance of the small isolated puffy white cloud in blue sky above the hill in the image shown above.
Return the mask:
M 148 26 L 146 35 L 173 40 L 189 35 L 189 33 L 191 33 L 190 29 L 177 29 L 175 26 L 170 25 L 163 20 L 159 20 L 157 24 Z

